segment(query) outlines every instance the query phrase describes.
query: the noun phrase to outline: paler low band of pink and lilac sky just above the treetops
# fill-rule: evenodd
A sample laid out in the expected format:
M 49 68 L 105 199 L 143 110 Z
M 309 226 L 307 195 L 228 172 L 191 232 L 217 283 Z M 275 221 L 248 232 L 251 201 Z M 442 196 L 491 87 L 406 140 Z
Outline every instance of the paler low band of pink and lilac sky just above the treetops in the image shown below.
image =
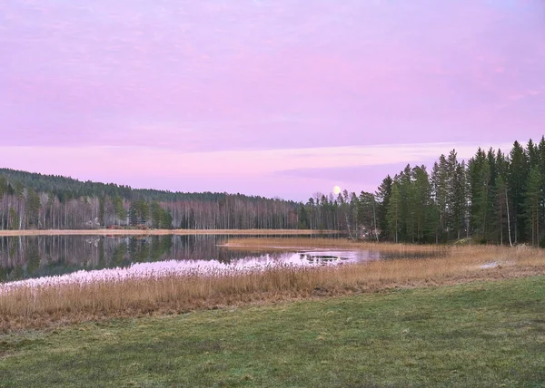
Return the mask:
M 0 147 L 10 167 L 139 188 L 230 191 L 304 199 L 333 184 L 375 189 L 404 165 L 427 164 L 456 149 L 470 158 L 477 143 L 421 143 L 306 149 L 175 152 L 147 147 Z M 495 148 L 510 150 L 510 143 Z M 22 157 L 24 156 L 24 157 Z M 45 161 L 46 160 L 46 161 Z M 371 171 L 371 172 L 370 172 Z M 313 189 L 311 189 L 313 188 Z

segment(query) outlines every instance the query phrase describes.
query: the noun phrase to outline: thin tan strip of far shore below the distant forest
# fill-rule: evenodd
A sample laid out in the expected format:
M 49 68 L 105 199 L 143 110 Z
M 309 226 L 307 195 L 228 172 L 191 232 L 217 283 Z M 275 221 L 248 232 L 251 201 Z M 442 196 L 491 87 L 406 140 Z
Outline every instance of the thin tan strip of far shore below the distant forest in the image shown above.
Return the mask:
M 0 237 L 17 236 L 164 236 L 164 235 L 326 235 L 337 230 L 309 229 L 47 229 L 0 230 Z

